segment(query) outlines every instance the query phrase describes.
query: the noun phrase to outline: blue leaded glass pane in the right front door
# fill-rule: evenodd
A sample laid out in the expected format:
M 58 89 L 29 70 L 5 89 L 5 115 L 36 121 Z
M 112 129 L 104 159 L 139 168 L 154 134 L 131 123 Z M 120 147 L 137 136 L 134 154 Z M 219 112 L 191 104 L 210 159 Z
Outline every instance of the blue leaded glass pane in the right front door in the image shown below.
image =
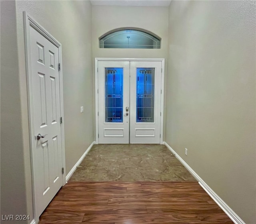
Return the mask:
M 136 122 L 154 122 L 154 68 L 137 68 Z

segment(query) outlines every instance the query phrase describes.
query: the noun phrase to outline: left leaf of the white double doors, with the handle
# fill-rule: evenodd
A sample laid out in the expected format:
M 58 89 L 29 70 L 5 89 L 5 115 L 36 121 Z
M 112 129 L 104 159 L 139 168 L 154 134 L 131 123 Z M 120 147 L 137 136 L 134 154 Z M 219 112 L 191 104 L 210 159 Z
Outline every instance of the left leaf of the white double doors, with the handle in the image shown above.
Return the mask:
M 98 61 L 99 143 L 129 143 L 129 62 Z

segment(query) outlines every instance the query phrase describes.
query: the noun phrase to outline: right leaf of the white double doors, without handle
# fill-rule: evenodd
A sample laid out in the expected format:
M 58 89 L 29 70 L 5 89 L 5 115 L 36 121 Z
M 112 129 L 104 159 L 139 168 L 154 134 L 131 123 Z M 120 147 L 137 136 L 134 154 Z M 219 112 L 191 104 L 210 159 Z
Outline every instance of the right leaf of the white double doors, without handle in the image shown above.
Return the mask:
M 160 143 L 161 61 L 130 62 L 130 143 Z

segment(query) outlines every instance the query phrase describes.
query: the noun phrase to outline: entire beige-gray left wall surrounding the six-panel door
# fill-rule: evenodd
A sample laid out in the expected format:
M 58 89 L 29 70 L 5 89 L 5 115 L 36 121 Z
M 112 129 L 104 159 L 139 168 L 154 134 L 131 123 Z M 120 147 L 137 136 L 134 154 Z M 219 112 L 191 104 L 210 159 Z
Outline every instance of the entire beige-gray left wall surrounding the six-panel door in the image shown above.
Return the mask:
M 62 44 L 66 174 L 94 141 L 92 13 L 89 1 L 1 1 L 1 214 L 33 218 L 24 10 Z

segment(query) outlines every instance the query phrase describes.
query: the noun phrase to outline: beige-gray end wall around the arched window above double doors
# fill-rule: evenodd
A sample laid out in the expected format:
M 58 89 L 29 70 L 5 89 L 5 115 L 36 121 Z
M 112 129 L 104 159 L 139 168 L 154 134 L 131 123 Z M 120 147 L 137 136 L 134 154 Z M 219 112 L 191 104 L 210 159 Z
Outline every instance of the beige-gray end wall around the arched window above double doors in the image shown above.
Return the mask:
M 104 16 L 103 16 L 104 15 Z M 104 49 L 99 37 L 112 29 L 136 27 L 162 38 L 161 49 Z M 168 8 L 135 6 L 92 6 L 92 54 L 94 57 L 166 58 Z

